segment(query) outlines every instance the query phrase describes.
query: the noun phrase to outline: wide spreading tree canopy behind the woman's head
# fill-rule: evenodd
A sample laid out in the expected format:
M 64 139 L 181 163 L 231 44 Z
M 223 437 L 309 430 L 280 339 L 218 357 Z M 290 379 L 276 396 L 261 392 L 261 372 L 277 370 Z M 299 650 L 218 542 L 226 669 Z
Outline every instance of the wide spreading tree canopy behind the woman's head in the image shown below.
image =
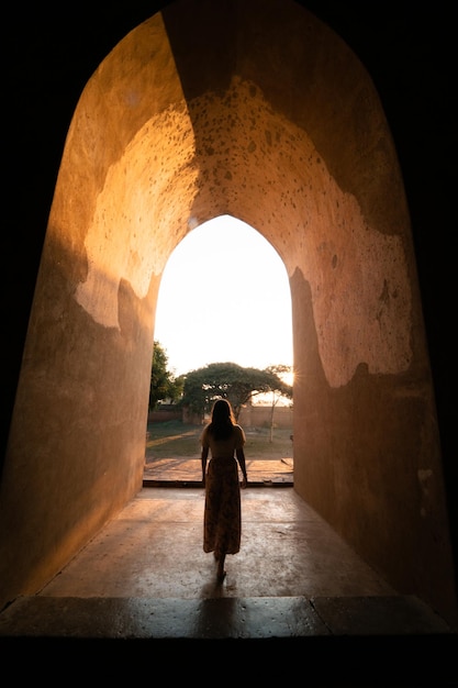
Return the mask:
M 203 417 L 216 399 L 227 399 L 238 419 L 245 403 L 269 391 L 292 398 L 292 387 L 281 380 L 275 367 L 260 370 L 243 368 L 236 363 L 211 363 L 185 376 L 182 404 Z

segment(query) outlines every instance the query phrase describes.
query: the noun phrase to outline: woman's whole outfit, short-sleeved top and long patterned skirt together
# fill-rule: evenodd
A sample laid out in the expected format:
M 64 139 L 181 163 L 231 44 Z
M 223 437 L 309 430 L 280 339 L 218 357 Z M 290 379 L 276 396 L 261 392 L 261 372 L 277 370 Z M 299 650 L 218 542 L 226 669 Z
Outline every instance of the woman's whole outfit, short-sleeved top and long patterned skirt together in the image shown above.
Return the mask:
M 215 552 L 217 556 L 236 554 L 241 550 L 242 507 L 238 462 L 234 454 L 245 444 L 245 433 L 234 425 L 228 439 L 215 441 L 205 428 L 201 443 L 211 453 L 205 476 L 203 551 Z

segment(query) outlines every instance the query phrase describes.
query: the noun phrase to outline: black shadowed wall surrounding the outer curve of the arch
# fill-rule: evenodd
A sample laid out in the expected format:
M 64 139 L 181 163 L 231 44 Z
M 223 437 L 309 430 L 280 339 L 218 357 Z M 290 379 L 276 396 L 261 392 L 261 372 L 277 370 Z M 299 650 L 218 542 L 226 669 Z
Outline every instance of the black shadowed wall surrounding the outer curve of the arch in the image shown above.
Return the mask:
M 186 1 L 186 0 L 185 0 Z M 41 249 L 68 125 L 107 53 L 168 2 L 36 3 L 9 9 L 3 44 L 1 232 L 2 454 Z M 458 522 L 455 393 L 456 41 L 451 4 L 302 0 L 353 48 L 372 77 L 399 153 L 417 256 L 450 522 Z M 94 9 L 96 7 L 96 9 Z M 454 542 L 456 543 L 456 533 Z M 455 551 L 457 551 L 455 546 Z

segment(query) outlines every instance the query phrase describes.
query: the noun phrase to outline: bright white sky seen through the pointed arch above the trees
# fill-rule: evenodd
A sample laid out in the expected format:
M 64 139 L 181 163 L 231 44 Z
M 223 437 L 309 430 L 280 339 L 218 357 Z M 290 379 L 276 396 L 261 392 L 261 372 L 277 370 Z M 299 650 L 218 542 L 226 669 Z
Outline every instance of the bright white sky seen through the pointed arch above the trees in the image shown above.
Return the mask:
M 291 293 L 278 253 L 230 215 L 192 230 L 165 267 L 154 339 L 176 376 L 210 363 L 292 366 Z

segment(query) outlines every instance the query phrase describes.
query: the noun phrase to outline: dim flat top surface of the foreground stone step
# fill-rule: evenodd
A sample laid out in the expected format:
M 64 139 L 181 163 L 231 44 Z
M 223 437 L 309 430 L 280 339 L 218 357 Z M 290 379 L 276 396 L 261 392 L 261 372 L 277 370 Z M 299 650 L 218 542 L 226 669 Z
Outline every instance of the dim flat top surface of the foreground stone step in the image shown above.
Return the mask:
M 413 596 L 16 599 L 0 637 L 272 639 L 448 634 Z

